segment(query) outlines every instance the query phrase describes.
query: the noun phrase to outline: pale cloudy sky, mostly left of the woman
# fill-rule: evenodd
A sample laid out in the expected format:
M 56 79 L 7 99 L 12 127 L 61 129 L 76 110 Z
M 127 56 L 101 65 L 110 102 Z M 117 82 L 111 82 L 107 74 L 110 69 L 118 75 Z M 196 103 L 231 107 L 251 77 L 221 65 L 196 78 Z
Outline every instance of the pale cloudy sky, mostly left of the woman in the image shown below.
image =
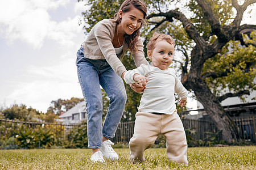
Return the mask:
M 76 52 L 85 40 L 85 1 L 0 0 L 0 108 L 46 113 L 52 100 L 82 98 Z M 256 16 L 256 10 L 253 10 Z M 246 17 L 244 22 L 254 23 Z M 188 107 L 196 107 L 196 101 Z

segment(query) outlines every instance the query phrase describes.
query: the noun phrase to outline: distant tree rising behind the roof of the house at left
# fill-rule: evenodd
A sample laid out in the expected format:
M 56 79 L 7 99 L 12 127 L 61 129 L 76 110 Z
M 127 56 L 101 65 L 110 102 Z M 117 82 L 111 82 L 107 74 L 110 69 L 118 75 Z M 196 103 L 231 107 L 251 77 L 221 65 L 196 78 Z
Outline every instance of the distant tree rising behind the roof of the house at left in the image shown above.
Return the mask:
M 47 112 L 52 112 L 60 115 L 60 112 L 67 112 L 69 109 L 73 108 L 80 101 L 84 101 L 82 98 L 72 97 L 71 99 L 58 99 L 51 101 L 51 107 L 47 109 Z

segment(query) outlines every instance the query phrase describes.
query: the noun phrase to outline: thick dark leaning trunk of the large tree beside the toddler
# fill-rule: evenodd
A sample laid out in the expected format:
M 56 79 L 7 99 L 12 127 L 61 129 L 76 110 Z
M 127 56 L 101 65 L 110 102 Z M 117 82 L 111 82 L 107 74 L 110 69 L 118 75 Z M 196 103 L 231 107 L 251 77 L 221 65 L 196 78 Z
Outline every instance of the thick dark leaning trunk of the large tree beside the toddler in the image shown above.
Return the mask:
M 210 51 L 207 51 L 208 54 Z M 197 100 L 203 104 L 205 112 L 210 116 L 217 129 L 222 131 L 222 139 L 234 142 L 239 139 L 236 125 L 220 105 L 217 97 L 209 90 L 207 83 L 201 78 L 201 67 L 204 63 L 204 52 L 198 46 L 191 53 L 191 70 L 183 82 L 184 87 L 191 88 Z

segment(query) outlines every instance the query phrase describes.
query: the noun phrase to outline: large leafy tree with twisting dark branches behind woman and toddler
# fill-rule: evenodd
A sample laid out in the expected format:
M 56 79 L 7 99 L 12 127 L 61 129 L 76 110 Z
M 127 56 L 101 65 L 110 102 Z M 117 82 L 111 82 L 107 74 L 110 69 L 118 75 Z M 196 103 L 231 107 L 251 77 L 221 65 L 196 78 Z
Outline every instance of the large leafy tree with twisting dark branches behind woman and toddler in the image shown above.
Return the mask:
M 84 12 L 84 19 L 89 24 L 89 27 L 85 25 L 86 31 L 89 32 L 101 19 L 113 16 L 122 2 L 89 0 L 90 8 Z M 181 75 L 181 82 L 203 104 L 218 130 L 222 130 L 222 138 L 228 142 L 237 140 L 236 126 L 220 103 L 227 97 L 240 96 L 244 99 L 256 89 L 253 83 L 256 43 L 255 33 L 251 33 L 256 25 L 241 25 L 246 8 L 256 0 L 144 2 L 149 14 L 149 24 L 141 32 L 144 45 L 155 31 L 174 37 L 177 56 L 181 56 L 175 58 L 174 67 Z M 134 63 L 129 53 L 126 59 L 130 63 L 125 66 L 131 69 Z M 127 103 L 137 107 L 138 95 L 135 97 L 132 94 L 131 97 L 135 100 L 130 101 L 128 97 Z

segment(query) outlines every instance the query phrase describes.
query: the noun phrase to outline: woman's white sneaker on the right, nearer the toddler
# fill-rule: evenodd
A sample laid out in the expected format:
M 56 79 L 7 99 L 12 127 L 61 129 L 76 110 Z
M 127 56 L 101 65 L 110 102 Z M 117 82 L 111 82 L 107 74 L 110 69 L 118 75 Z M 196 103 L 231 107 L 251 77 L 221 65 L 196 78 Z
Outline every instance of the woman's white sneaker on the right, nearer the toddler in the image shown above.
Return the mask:
M 100 151 L 105 156 L 106 159 L 115 160 L 118 159 L 117 152 L 115 152 L 111 145 L 114 145 L 110 140 L 104 141 L 101 144 Z

